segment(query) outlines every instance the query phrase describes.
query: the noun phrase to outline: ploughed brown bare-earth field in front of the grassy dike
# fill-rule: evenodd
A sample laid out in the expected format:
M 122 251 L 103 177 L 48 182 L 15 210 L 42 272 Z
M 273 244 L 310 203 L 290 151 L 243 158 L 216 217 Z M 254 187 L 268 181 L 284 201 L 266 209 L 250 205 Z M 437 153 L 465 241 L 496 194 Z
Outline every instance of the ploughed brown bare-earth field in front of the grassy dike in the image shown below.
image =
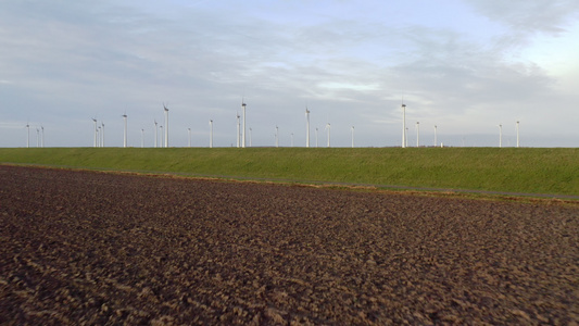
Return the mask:
M 579 206 L 0 165 L 0 324 L 579 323 Z

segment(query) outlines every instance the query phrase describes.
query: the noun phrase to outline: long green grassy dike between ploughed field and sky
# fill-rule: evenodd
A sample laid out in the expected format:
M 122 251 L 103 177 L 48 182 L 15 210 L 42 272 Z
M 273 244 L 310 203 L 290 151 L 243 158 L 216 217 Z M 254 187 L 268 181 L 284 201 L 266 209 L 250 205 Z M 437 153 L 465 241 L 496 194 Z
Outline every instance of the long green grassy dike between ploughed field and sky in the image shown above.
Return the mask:
M 579 149 L 4 148 L 0 162 L 579 196 Z

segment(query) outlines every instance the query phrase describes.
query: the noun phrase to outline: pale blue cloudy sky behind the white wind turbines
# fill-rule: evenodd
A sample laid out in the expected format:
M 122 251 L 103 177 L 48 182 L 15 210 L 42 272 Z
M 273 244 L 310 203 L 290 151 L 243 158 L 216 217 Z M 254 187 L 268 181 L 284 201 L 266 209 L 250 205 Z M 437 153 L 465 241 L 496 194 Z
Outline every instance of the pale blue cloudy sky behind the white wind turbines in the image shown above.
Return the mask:
M 169 147 L 210 120 L 235 147 L 242 100 L 254 147 L 304 147 L 305 108 L 311 147 L 401 146 L 402 100 L 411 147 L 514 147 L 517 121 L 578 147 L 579 1 L 0 0 L 0 147 L 92 147 L 93 118 L 122 147 L 123 114 L 154 147 L 163 105 Z

